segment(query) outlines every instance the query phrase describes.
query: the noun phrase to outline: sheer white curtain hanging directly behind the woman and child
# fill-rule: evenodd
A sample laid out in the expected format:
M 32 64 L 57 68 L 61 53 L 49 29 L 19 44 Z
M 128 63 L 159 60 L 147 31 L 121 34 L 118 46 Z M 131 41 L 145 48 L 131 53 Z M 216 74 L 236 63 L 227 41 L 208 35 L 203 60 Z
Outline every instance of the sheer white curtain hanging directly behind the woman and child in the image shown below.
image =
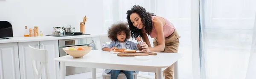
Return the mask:
M 198 79 L 195 75 L 200 76 L 199 51 L 194 52 L 198 55 L 193 55 L 192 42 L 199 41 L 199 38 L 198 40 L 192 40 L 192 38 L 197 38 L 192 37 L 192 32 L 198 32 L 199 29 L 194 30 L 191 26 L 191 0 L 107 0 L 106 2 L 110 4 L 104 3 L 106 4 L 104 6 L 105 34 L 107 33 L 107 28 L 110 27 L 112 23 L 117 21 L 127 22 L 126 11 L 131 9 L 131 6 L 134 5 L 143 6 L 148 12 L 152 12 L 172 22 L 178 34 L 181 36 L 178 53 L 184 54 L 178 63 L 178 77 L 179 79 Z M 151 46 L 153 46 L 153 39 L 151 37 L 148 38 L 151 42 Z M 135 42 L 135 40 L 132 41 Z M 198 47 L 194 49 L 199 50 L 199 44 Z M 192 63 L 196 64 L 193 65 Z M 154 79 L 154 73 L 140 72 L 138 76 Z

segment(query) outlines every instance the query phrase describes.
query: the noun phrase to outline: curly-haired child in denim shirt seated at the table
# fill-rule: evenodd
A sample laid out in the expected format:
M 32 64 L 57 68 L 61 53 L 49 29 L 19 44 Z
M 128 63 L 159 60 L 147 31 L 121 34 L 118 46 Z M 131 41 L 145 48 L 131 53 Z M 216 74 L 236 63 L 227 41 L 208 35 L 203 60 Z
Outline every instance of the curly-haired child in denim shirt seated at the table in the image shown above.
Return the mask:
M 111 28 L 108 29 L 108 37 L 112 42 L 108 45 L 103 45 L 103 51 L 113 51 L 114 49 L 132 49 L 137 50 L 136 44 L 134 42 L 128 41 L 131 37 L 130 29 L 128 28 L 128 23 L 117 23 L 113 24 Z M 117 79 L 120 72 L 123 72 L 127 79 L 133 79 L 133 71 L 121 71 L 121 70 L 111 70 L 106 69 L 105 73 L 111 73 L 111 79 Z

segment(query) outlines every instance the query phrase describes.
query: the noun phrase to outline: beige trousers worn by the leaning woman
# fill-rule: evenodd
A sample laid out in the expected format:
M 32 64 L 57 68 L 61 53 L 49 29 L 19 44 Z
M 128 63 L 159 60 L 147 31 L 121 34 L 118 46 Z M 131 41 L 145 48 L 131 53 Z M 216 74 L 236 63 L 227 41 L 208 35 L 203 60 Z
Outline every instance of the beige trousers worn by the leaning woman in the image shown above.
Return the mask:
M 165 48 L 164 51 L 166 53 L 177 53 L 180 45 L 179 34 L 175 30 L 169 37 L 165 38 Z M 153 40 L 154 47 L 158 45 L 157 38 Z M 163 71 L 163 76 L 165 79 L 173 79 L 173 65 L 169 66 Z M 155 79 L 157 79 L 157 74 L 155 73 Z

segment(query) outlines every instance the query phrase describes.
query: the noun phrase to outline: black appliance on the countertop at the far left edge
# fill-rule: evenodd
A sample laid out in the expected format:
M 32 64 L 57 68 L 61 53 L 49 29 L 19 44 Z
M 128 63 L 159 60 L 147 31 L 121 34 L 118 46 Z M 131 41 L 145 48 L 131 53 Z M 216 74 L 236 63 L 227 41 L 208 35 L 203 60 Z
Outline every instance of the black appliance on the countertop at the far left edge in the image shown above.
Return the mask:
M 12 24 L 9 21 L 0 21 L 0 39 L 13 37 Z

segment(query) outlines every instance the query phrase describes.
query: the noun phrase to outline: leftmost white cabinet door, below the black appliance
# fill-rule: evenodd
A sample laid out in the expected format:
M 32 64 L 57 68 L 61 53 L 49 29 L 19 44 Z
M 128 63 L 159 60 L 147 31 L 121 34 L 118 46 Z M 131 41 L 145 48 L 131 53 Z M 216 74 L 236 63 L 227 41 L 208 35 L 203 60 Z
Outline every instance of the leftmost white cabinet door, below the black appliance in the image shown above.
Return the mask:
M 20 79 L 18 44 L 0 44 L 0 79 Z

